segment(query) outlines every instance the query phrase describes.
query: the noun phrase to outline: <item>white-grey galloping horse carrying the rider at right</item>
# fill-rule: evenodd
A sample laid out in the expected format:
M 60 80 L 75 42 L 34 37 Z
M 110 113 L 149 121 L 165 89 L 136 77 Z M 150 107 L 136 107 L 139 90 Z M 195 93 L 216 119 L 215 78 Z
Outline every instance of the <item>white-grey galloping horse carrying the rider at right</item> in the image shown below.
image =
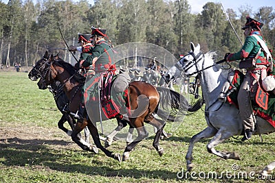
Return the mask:
M 197 141 L 203 138 L 214 136 L 207 145 L 208 152 L 224 159 L 240 160 L 239 155 L 234 152 L 223 152 L 215 149 L 217 145 L 223 143 L 226 139 L 232 136 L 239 136 L 243 132 L 239 110 L 235 108 L 234 105 L 217 100 L 221 93 L 221 88 L 228 78 L 229 69 L 222 69 L 221 66 L 215 63 L 215 55 L 216 53 L 214 52 L 203 54 L 200 51 L 200 45 L 198 44 L 197 47 L 195 47 L 191 42 L 191 51 L 188 55 L 172 66 L 166 75 L 167 82 L 172 80 L 173 77 L 177 78 L 181 75 L 181 72 L 184 72 L 188 76 L 199 75 L 201 89 L 206 103 L 205 117 L 208 127 L 190 139 L 188 152 L 186 154 L 188 171 L 194 166 L 194 164 L 192 164 L 193 147 Z M 254 135 L 275 131 L 275 128 L 264 119 L 256 117 L 256 121 L 258 128 Z

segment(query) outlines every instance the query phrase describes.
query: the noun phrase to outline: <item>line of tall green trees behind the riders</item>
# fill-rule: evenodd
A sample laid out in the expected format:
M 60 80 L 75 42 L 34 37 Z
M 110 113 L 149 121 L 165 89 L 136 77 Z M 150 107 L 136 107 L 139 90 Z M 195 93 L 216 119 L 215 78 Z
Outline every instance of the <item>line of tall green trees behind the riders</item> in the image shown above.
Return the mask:
M 10 0 L 0 2 L 0 64 L 32 66 L 46 49 L 65 60 L 68 45 L 78 45 L 78 32 L 91 33 L 91 25 L 107 29 L 113 45 L 149 42 L 164 47 L 176 58 L 190 51 L 190 41 L 203 51 L 239 51 L 241 42 L 234 34 L 220 3 L 208 2 L 199 14 L 190 12 L 187 0 Z M 262 33 L 270 49 L 275 49 L 275 12 L 272 7 L 240 7 L 226 10 L 236 33 L 244 40 L 241 27 L 246 16 L 263 22 Z

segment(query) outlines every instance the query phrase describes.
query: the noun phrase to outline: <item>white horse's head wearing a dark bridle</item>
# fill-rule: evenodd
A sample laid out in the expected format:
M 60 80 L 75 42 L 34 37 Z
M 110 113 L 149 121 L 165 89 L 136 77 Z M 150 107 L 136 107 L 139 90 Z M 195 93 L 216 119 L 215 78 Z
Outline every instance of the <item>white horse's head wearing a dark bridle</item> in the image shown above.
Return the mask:
M 200 50 L 201 46 L 199 44 L 195 47 L 195 45 L 190 42 L 190 46 L 191 51 L 166 73 L 166 82 L 179 78 L 183 73 L 188 77 L 197 75 L 197 71 L 201 69 L 197 63 L 203 58 L 203 53 Z

